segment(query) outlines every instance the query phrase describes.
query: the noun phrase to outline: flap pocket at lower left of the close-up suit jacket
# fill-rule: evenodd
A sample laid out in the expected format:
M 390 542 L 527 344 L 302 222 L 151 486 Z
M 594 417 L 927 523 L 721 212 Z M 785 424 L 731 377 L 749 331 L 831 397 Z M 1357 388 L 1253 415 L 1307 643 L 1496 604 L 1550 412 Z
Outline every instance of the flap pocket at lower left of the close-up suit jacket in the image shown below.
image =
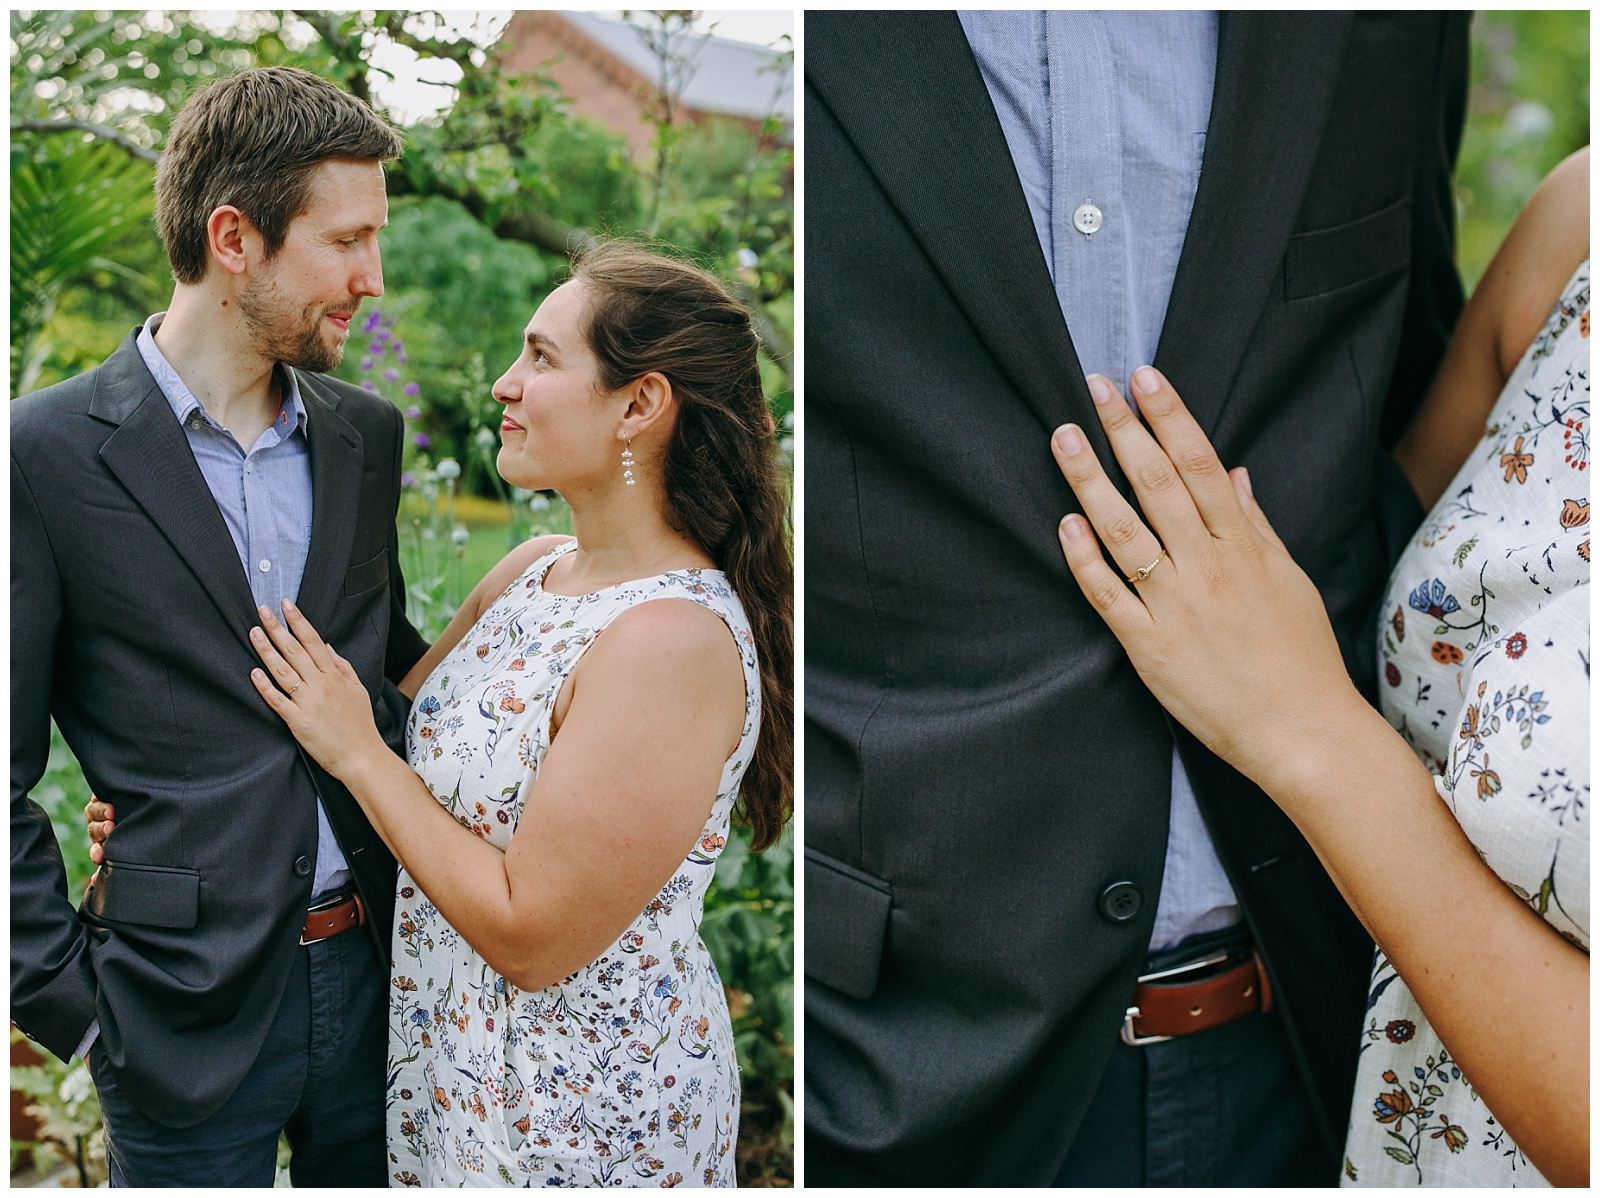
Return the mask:
M 851 998 L 870 998 L 893 897 L 886 881 L 806 849 L 806 976 Z

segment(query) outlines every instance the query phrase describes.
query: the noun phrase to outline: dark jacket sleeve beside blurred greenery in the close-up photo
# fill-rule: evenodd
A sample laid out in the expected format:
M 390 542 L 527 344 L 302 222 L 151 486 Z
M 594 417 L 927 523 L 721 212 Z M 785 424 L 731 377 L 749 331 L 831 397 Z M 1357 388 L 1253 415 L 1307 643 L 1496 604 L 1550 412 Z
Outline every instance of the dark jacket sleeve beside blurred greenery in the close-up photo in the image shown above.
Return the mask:
M 1467 115 L 1469 13 L 1442 13 L 1434 94 L 1437 107 L 1421 147 L 1411 205 L 1411 293 L 1379 435 L 1394 448 L 1427 393 L 1461 317 L 1456 274 L 1456 155 Z

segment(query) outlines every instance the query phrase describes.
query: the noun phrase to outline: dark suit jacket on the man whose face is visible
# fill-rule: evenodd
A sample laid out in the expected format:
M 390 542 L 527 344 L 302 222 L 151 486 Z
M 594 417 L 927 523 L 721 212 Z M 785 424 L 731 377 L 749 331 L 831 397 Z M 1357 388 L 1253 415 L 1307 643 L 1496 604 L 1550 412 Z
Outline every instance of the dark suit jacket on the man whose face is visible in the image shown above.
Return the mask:
M 403 752 L 394 681 L 424 653 L 397 560 L 403 422 L 301 374 L 312 539 L 298 603 Z M 11 403 L 11 1017 L 66 1059 L 93 1019 L 150 1118 L 198 1123 L 266 1036 L 310 899 L 320 795 L 389 955 L 395 862 L 250 681 L 250 584 L 130 333 Z M 117 808 L 82 908 L 29 792 L 50 720 Z

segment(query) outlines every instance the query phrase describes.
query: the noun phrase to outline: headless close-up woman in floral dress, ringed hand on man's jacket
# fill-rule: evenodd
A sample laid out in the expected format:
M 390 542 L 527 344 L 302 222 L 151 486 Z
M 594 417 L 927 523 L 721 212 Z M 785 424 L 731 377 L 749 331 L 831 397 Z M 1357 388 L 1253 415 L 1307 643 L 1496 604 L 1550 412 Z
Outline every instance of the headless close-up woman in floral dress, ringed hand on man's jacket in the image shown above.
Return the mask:
M 1147 525 L 1080 429 L 1054 433 L 1088 517 L 1061 521 L 1085 598 L 1378 942 L 1347 1182 L 1589 1180 L 1587 229 L 1584 149 L 1507 237 L 1400 445 L 1438 502 L 1386 597 L 1398 734 L 1165 377 L 1134 373 L 1155 440 L 1090 379 Z

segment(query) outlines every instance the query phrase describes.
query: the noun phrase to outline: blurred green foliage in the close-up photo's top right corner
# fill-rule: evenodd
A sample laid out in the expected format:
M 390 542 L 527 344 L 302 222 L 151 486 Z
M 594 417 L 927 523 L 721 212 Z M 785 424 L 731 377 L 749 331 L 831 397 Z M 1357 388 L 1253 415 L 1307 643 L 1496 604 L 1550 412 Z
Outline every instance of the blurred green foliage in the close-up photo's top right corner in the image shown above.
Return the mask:
M 1478 13 L 1456 168 L 1456 261 L 1470 291 L 1539 181 L 1589 144 L 1589 11 Z

